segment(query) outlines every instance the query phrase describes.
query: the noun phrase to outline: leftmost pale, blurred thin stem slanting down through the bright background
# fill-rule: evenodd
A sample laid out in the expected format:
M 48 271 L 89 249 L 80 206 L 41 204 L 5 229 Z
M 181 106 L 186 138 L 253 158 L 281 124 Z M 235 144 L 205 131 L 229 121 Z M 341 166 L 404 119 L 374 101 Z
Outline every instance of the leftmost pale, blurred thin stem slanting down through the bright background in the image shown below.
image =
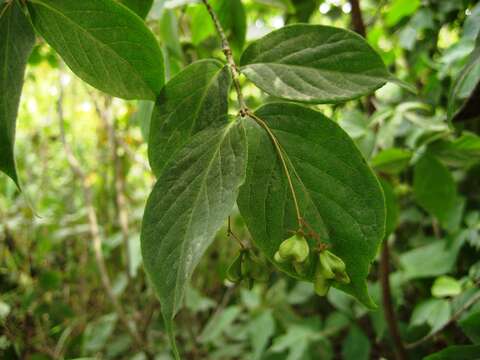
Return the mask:
M 135 344 L 140 348 L 144 349 L 145 344 L 142 341 L 142 338 L 138 334 L 136 328 L 134 327 L 133 323 L 130 322 L 127 314 L 125 313 L 122 305 L 118 301 L 115 293 L 113 292 L 112 284 L 108 275 L 107 266 L 105 263 L 105 259 L 103 257 L 102 252 L 102 238 L 100 234 L 100 227 L 98 224 L 97 214 L 95 212 L 94 207 L 94 197 L 92 187 L 88 181 L 88 178 L 83 171 L 80 162 L 75 157 L 70 144 L 66 140 L 65 136 L 65 120 L 64 120 L 64 113 L 63 113 L 63 85 L 61 82 L 59 83 L 59 97 L 57 102 L 57 115 L 59 120 L 59 127 L 60 127 L 60 140 L 63 145 L 63 149 L 65 152 L 65 156 L 67 157 L 67 161 L 70 165 L 72 172 L 77 176 L 81 183 L 81 187 L 83 190 L 83 197 L 85 202 L 85 207 L 87 209 L 87 218 L 90 230 L 90 236 L 92 237 L 93 242 L 93 250 L 95 254 L 95 261 L 97 263 L 98 271 L 100 273 L 100 280 L 102 282 L 103 288 L 107 293 L 107 296 L 110 299 L 110 302 L 117 313 L 120 322 L 124 325 L 126 330 L 128 331 L 129 335 L 132 337 Z

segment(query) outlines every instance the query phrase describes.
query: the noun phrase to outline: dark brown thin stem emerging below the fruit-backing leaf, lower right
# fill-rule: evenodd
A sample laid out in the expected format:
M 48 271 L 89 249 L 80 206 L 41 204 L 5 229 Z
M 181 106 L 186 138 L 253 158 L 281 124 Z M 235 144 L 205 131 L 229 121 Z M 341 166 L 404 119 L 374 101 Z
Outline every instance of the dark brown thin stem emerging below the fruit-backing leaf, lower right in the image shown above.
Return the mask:
M 408 359 L 407 351 L 405 350 L 402 337 L 400 336 L 400 330 L 398 329 L 397 317 L 395 315 L 395 309 L 393 308 L 392 293 L 390 291 L 389 263 L 390 252 L 388 242 L 385 240 L 380 257 L 379 269 L 379 278 L 382 285 L 383 311 L 388 330 L 395 345 L 395 356 L 397 360 L 406 360 Z

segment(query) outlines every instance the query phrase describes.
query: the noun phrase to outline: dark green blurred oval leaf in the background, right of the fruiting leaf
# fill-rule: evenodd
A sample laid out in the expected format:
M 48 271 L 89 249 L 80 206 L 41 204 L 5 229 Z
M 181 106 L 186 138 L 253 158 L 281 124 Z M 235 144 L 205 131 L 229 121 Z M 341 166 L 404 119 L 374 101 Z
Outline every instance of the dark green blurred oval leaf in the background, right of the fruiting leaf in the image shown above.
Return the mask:
M 457 205 L 457 187 L 450 171 L 425 154 L 415 164 L 413 191 L 417 203 L 446 225 Z

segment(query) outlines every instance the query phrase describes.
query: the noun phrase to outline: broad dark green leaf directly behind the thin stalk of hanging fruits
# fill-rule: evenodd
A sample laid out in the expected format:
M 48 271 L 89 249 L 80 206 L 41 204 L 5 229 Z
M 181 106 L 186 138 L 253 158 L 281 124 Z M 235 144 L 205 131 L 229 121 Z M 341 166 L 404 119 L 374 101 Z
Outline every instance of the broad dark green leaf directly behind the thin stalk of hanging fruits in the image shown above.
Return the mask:
M 256 115 L 278 138 L 295 174 L 302 217 L 347 265 L 352 282 L 340 288 L 373 307 L 365 279 L 385 230 L 385 204 L 377 179 L 348 135 L 322 114 L 277 103 L 260 108 Z M 297 230 L 296 215 L 267 133 L 249 120 L 247 138 L 247 179 L 238 205 L 253 241 L 273 261 L 280 243 Z M 280 268 L 312 280 L 312 271 L 299 276 L 290 265 Z

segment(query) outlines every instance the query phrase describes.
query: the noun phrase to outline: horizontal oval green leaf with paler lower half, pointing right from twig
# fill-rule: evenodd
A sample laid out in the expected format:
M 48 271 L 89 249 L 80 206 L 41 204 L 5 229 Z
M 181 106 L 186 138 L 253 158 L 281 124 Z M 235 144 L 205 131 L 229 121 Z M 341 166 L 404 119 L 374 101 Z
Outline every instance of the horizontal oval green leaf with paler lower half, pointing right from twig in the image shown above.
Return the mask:
M 380 56 L 358 34 L 291 25 L 247 47 L 241 71 L 270 95 L 307 103 L 358 98 L 389 79 Z

